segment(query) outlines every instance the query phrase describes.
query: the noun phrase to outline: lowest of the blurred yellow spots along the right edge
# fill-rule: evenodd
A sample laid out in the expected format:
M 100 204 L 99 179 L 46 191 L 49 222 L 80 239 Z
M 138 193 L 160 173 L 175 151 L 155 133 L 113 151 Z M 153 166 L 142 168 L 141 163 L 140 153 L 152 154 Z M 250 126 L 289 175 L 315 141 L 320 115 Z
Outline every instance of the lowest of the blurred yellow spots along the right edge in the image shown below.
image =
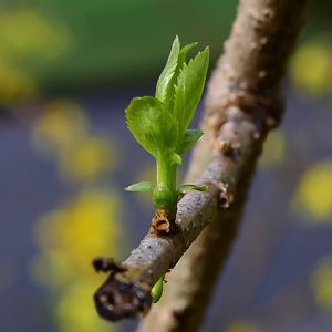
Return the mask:
M 324 259 L 311 278 L 314 300 L 320 308 L 332 310 L 332 259 Z

